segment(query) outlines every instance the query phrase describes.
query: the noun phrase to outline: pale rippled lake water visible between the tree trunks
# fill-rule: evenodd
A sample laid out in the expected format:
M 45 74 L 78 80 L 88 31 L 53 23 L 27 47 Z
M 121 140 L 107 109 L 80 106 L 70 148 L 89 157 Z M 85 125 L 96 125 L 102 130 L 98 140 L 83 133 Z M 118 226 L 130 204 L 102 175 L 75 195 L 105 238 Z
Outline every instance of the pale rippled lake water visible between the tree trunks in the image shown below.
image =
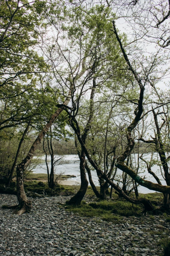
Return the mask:
M 150 154 L 147 154 L 147 156 L 150 159 Z M 143 158 L 147 159 L 147 156 L 145 155 L 145 156 L 143 156 Z M 68 180 L 71 181 L 72 185 L 79 185 L 80 184 L 80 168 L 79 168 L 78 155 L 65 155 L 64 161 L 67 161 L 67 162 L 69 161 L 69 163 L 63 163 L 63 164 L 57 165 L 55 173 L 56 174 L 63 173 L 64 175 L 75 175 L 76 178 L 70 178 Z M 49 156 L 49 168 L 50 168 L 50 156 Z M 151 169 L 153 172 L 155 172 L 157 174 L 159 179 L 162 180 L 162 184 L 166 185 L 166 182 L 165 182 L 165 180 L 163 180 L 160 170 L 158 171 L 158 166 L 154 165 Z M 139 172 L 142 172 L 142 174 L 140 174 L 141 177 L 144 177 L 144 175 L 145 175 L 147 180 L 157 183 L 156 180 L 153 178 L 153 176 L 148 173 L 147 168 L 142 167 L 142 169 L 139 169 Z M 41 156 L 41 164 L 36 166 L 36 168 L 33 170 L 33 173 L 47 173 L 45 156 Z M 92 179 L 93 179 L 94 184 L 96 186 L 99 186 L 99 181 L 98 181 L 96 172 L 92 171 L 91 173 L 92 173 Z M 117 173 L 118 173 L 118 175 L 121 175 L 122 171 L 118 169 Z M 87 179 L 88 179 L 88 174 L 87 174 Z M 88 181 L 89 181 L 89 179 L 88 179 Z M 90 183 L 89 183 L 89 185 L 90 185 Z M 138 190 L 140 193 L 144 193 L 144 194 L 155 192 L 153 190 L 149 190 L 142 186 L 139 186 Z

